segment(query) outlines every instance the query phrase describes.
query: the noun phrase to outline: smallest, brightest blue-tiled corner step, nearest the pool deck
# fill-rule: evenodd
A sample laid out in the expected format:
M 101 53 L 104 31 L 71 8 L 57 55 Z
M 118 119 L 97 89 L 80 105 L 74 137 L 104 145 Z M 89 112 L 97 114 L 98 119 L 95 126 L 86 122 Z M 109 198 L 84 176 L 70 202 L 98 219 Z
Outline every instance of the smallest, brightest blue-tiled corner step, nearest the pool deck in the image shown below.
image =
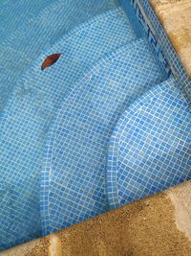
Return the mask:
M 151 89 L 121 116 L 110 140 L 110 208 L 191 178 L 191 111 L 172 80 Z

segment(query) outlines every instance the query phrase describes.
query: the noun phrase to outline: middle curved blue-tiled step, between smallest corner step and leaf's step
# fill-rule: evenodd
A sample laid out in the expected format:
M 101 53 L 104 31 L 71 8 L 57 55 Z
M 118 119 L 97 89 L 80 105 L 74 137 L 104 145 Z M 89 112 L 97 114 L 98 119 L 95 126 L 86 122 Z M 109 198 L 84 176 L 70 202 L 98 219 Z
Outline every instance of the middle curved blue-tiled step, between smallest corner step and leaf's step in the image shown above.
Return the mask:
M 48 234 L 108 209 L 107 148 L 120 114 L 163 80 L 144 40 L 100 59 L 64 101 L 49 131 L 41 189 Z

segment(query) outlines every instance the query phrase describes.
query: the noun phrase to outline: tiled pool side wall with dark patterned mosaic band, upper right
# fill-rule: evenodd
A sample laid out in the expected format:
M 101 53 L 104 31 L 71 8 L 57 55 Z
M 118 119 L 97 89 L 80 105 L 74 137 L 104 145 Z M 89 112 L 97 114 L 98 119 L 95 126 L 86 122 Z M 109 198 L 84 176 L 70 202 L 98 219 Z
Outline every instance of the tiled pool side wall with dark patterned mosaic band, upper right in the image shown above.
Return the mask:
M 181 93 L 191 101 L 191 81 L 188 79 L 186 72 L 180 62 L 175 49 L 170 43 L 168 36 L 159 23 L 156 13 L 151 8 L 148 0 L 127 0 L 134 8 L 135 14 L 159 58 L 163 59 L 163 65 L 173 73 L 173 76 L 179 80 Z M 120 0 L 123 2 L 123 0 Z M 159 45 L 159 47 L 158 47 Z M 162 56 L 161 56 L 162 55 Z M 165 57 L 165 59 L 164 59 Z

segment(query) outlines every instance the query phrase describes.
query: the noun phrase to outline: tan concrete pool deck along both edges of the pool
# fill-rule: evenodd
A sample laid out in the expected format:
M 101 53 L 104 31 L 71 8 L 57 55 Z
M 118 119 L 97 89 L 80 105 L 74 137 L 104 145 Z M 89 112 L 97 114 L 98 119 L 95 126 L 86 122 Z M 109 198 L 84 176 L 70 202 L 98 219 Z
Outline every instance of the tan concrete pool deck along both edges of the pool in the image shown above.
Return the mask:
M 191 1 L 150 0 L 150 3 L 191 78 Z M 190 256 L 191 182 L 0 255 Z

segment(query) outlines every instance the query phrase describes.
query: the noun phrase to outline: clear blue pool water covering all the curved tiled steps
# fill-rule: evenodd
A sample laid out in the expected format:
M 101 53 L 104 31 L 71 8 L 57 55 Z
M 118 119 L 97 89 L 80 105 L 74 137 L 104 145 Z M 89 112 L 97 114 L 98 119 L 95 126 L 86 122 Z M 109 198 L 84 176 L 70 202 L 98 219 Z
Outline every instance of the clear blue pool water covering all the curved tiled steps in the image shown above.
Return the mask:
M 190 102 L 128 7 L 0 3 L 1 250 L 191 178 Z

